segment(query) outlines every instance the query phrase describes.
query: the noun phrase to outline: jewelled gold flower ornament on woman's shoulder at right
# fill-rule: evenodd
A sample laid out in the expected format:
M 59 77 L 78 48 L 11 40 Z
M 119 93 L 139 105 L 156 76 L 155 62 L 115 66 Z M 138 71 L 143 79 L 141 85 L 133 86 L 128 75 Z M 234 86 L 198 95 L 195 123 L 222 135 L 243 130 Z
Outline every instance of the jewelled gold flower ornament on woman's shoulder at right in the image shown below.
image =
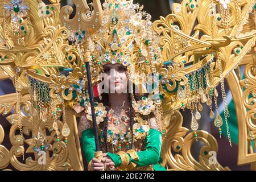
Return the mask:
M 136 113 L 148 115 L 155 110 L 155 105 L 149 97 L 142 97 L 142 100 L 133 101 L 133 108 Z

